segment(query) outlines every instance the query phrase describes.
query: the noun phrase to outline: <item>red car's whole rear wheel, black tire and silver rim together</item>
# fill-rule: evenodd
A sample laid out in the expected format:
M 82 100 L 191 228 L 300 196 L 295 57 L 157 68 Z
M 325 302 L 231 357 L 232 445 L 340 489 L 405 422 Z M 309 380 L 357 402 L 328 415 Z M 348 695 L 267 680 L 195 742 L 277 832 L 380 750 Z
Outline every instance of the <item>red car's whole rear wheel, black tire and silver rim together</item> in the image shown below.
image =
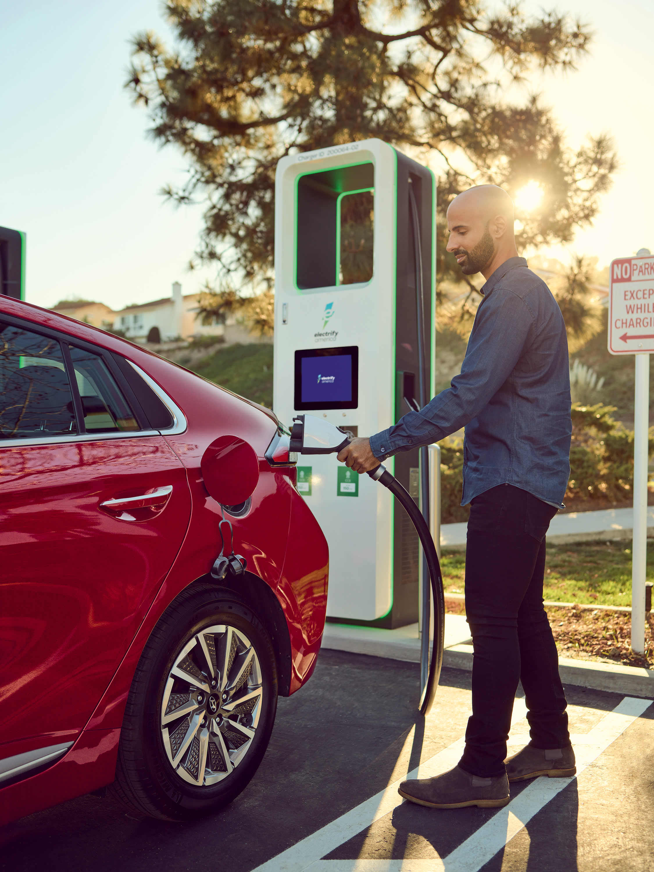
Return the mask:
M 198 634 L 220 627 L 230 629 L 203 635 L 202 647 Z M 181 659 L 187 644 L 193 647 Z M 223 656 L 227 646 L 229 652 Z M 213 678 L 205 652 L 213 658 Z M 224 667 L 222 673 L 217 668 L 219 663 Z M 176 664 L 181 664 L 184 671 Z M 195 676 L 194 670 L 196 681 L 181 680 L 187 674 Z M 236 676 L 235 680 L 230 676 Z M 207 695 L 197 683 L 211 688 L 212 680 L 216 689 L 210 689 Z M 223 680 L 226 684 L 221 694 Z M 232 685 L 234 689 L 230 689 Z M 257 691 L 259 686 L 261 691 Z M 188 699 L 184 701 L 186 693 Z M 222 702 L 228 693 L 227 701 Z M 245 704 L 241 702 L 243 697 L 248 697 Z M 261 621 L 232 591 L 192 586 L 162 615 L 134 672 L 112 794 L 141 814 L 164 821 L 193 820 L 227 805 L 248 785 L 262 761 L 275 723 L 276 706 L 275 653 Z M 179 719 L 178 711 L 182 712 Z M 185 711 L 189 712 L 186 717 Z M 162 726 L 167 718 L 174 720 Z M 188 739 L 194 729 L 194 738 Z M 251 738 L 249 733 L 253 734 Z M 182 752 L 182 762 L 175 765 L 176 758 L 171 755 L 187 740 L 190 744 Z M 202 754 L 208 761 L 206 768 L 201 760 L 197 762 Z M 230 772 L 229 766 L 234 766 Z M 188 779 L 201 781 L 188 783 Z M 215 783 L 206 783 L 212 780 Z

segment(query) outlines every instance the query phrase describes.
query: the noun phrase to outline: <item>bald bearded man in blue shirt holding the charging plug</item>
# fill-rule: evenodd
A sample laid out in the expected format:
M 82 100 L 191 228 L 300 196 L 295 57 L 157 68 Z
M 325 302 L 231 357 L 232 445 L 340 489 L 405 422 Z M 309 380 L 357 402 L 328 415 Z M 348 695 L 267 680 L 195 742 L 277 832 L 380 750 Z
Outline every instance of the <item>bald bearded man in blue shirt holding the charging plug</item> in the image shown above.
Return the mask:
M 570 384 L 561 310 L 518 256 L 514 209 L 500 187 L 459 194 L 447 210 L 452 252 L 486 279 L 460 375 L 420 412 L 338 460 L 358 473 L 465 426 L 463 499 L 470 503 L 466 614 L 473 637 L 473 714 L 458 766 L 404 781 L 399 793 L 433 808 L 497 807 L 509 782 L 576 772 L 558 657 L 543 609 L 545 534 L 569 477 Z M 530 742 L 505 760 L 518 682 Z

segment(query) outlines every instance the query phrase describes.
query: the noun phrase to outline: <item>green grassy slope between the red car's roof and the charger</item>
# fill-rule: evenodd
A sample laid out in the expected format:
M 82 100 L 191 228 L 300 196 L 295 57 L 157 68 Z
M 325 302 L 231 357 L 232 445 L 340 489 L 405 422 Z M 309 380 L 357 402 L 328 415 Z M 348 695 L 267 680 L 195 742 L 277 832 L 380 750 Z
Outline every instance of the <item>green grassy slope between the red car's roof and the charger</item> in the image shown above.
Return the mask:
M 190 368 L 216 385 L 272 408 L 272 345 L 228 345 Z

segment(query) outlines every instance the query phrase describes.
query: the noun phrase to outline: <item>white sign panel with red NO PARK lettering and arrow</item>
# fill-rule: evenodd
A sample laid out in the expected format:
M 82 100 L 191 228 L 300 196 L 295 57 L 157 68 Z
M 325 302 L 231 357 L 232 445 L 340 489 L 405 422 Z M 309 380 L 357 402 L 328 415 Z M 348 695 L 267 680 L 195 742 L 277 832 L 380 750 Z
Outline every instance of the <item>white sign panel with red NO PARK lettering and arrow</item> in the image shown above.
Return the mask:
M 609 351 L 654 351 L 654 257 L 623 257 L 610 265 Z

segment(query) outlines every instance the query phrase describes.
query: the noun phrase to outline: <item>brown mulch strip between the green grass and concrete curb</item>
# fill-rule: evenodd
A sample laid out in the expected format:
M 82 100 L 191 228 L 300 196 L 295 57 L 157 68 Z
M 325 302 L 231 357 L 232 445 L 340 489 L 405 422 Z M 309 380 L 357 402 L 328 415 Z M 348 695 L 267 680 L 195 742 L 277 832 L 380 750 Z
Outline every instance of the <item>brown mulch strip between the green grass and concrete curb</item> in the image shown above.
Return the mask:
M 465 615 L 463 600 L 446 596 L 446 611 Z M 579 606 L 546 606 L 549 625 L 561 657 L 654 668 L 654 615 L 645 621 L 645 653 L 631 651 L 631 614 Z

